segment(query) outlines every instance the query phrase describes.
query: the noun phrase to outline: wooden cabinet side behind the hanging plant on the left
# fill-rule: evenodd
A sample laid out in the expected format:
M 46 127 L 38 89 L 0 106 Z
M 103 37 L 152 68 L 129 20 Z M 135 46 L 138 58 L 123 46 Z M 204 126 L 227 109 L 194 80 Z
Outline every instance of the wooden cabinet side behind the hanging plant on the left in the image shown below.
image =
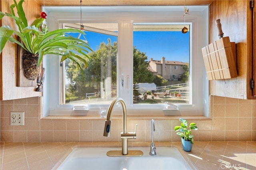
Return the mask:
M 1 11 L 10 13 L 10 5 L 13 4 L 13 0 L 1 0 L 0 3 Z M 36 1 L 25 1 L 23 3 L 23 8 L 28 19 L 28 24 L 31 24 L 35 18 L 40 17 L 41 7 Z M 0 22 L 2 25 L 8 25 L 15 28 L 14 21 L 9 17 L 4 17 Z M 42 95 L 42 92 L 34 91 L 35 87 L 16 87 L 17 51 L 17 45 L 8 42 L 1 53 L 0 100 L 20 99 Z

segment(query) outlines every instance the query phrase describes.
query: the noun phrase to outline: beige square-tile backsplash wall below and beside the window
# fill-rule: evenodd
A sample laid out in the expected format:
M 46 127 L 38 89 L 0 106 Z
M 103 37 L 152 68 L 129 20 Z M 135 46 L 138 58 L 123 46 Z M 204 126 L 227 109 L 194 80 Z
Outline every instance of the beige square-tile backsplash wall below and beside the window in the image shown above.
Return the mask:
M 24 111 L 25 126 L 10 126 L 10 112 Z M 0 101 L 0 135 L 4 142 L 98 142 L 120 141 L 122 119 L 112 118 L 110 137 L 103 136 L 105 119 L 40 120 L 40 98 L 32 97 Z M 210 118 L 194 119 L 198 130 L 193 131 L 195 141 L 255 141 L 256 100 L 242 100 L 210 96 Z M 134 130 L 136 141 L 151 141 L 152 117 L 128 119 L 127 129 Z M 180 141 L 174 126 L 180 125 L 172 117 L 153 118 L 155 141 Z M 189 121 L 190 122 L 190 121 Z

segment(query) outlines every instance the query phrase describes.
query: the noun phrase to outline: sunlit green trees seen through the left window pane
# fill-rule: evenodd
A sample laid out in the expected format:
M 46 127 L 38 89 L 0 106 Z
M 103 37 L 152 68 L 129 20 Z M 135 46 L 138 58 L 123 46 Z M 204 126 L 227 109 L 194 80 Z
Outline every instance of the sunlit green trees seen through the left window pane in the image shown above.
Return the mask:
M 113 45 L 108 39 L 108 44 L 102 42 L 99 49 L 88 54 L 88 67 L 84 69 L 84 83 L 82 81 L 82 73 L 78 71 L 76 65 L 72 61 L 66 62 L 66 76 L 69 83 L 68 93 L 70 96 L 78 99 L 84 99 L 86 93 L 94 93 L 100 88 L 100 82 L 106 77 L 112 77 L 112 82 L 116 81 L 116 55 L 117 43 Z M 79 62 L 79 61 L 78 61 Z M 83 63 L 80 63 L 82 66 Z M 96 88 L 92 88 L 96 85 Z

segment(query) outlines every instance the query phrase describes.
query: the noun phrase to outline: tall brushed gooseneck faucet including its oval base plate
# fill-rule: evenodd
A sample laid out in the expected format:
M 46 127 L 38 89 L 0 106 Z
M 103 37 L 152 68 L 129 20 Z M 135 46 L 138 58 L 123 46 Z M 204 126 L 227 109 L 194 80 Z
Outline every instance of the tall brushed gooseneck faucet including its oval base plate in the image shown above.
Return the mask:
M 107 119 L 105 121 L 105 128 L 104 128 L 104 134 L 103 136 L 110 136 L 110 130 L 111 130 L 111 123 L 112 123 L 112 111 L 116 105 L 116 103 L 120 102 L 123 108 L 123 132 L 121 132 L 121 139 L 122 139 L 122 154 L 118 153 L 116 150 L 110 150 L 108 151 L 107 155 L 108 156 L 124 156 L 124 155 L 128 155 L 128 156 L 142 156 L 143 152 L 140 150 L 131 150 L 131 152 L 128 154 L 128 139 L 136 139 L 136 129 L 137 129 L 137 125 L 135 127 L 135 132 L 127 132 L 126 128 L 127 128 L 127 121 L 126 121 L 126 105 L 124 103 L 124 100 L 122 98 L 116 98 L 114 99 L 114 101 L 112 101 L 112 103 L 110 104 L 109 108 L 108 108 L 108 115 L 107 115 Z M 135 151 L 135 152 L 134 152 Z

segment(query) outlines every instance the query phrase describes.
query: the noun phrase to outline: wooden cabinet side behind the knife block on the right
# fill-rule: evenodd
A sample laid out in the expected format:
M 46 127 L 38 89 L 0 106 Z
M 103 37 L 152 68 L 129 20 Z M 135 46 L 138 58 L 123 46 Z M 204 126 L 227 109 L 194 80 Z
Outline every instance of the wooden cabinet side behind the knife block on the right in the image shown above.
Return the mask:
M 252 11 L 249 0 L 217 0 L 210 4 L 209 43 L 218 39 L 214 21 L 220 19 L 224 37 L 236 43 L 238 77 L 210 81 L 212 95 L 254 99 L 250 90 L 252 78 Z M 256 98 L 255 98 L 256 99 Z

